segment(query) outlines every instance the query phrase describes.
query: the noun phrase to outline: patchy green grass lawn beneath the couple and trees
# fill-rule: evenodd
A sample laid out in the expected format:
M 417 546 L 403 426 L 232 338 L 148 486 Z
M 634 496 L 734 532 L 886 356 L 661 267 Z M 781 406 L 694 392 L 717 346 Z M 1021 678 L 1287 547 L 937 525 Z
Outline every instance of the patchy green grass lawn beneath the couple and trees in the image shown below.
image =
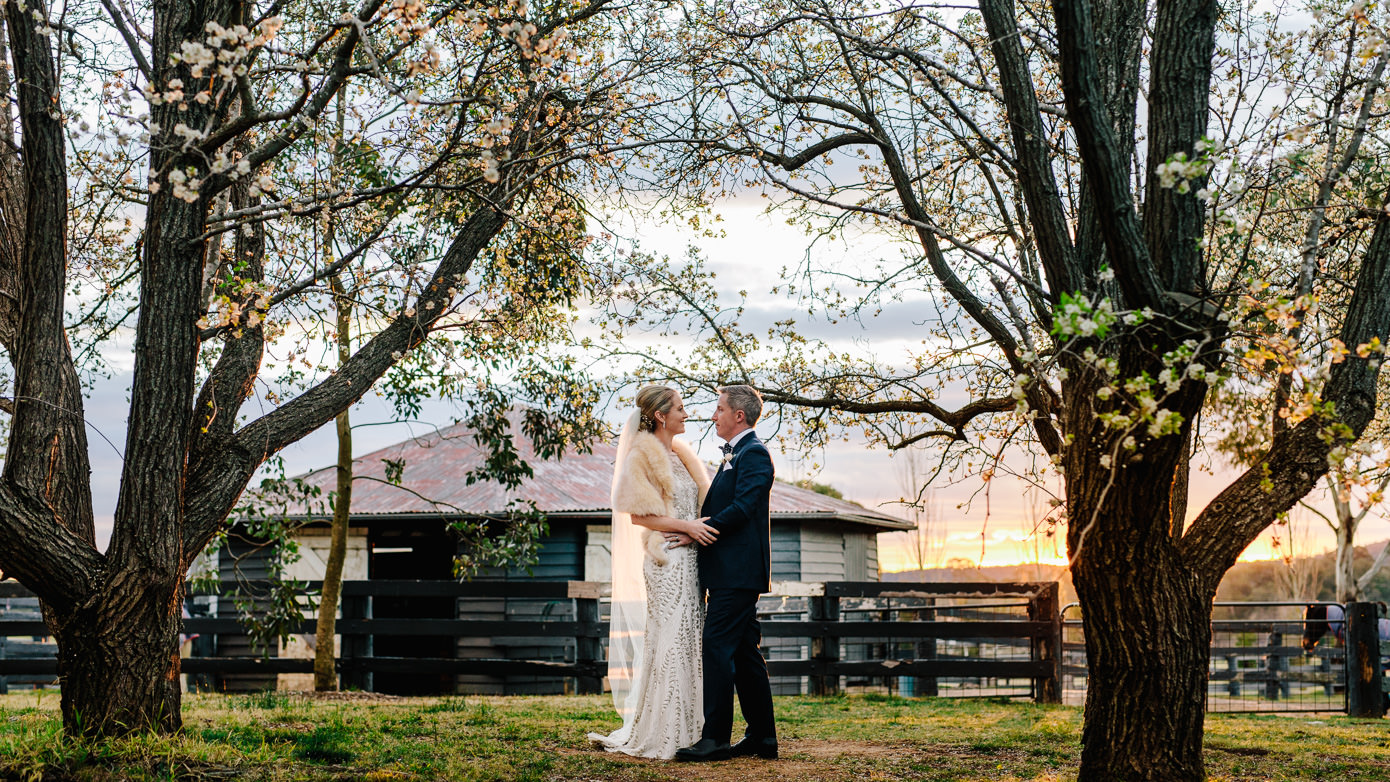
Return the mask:
M 175 738 L 61 736 L 53 692 L 0 696 L 0 779 L 897 781 L 1070 779 L 1081 714 L 1029 703 L 781 697 L 778 761 L 635 760 L 589 749 L 607 697 L 189 694 Z M 735 732 L 741 726 L 735 728 Z M 1212 779 L 1390 779 L 1390 724 L 1211 715 Z

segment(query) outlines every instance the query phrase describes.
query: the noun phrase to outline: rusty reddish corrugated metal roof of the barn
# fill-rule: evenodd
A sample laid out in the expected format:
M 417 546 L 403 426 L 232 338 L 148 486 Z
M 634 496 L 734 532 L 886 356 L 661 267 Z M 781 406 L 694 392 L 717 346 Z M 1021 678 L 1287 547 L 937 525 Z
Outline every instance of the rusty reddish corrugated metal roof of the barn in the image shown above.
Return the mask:
M 500 514 L 513 500 L 531 500 L 546 514 L 609 510 L 617 453 L 614 444 L 595 443 L 592 453 L 541 460 L 530 438 L 516 429 L 514 438 L 521 460 L 535 474 L 514 490 L 486 481 L 467 483 L 467 474 L 482 463 L 485 450 L 474 442 L 473 431 L 466 424 L 357 457 L 353 460 L 352 514 Z M 404 461 L 400 486 L 386 481 L 386 461 Z M 708 467 L 713 474 L 713 467 Z M 336 468 L 316 469 L 303 478 L 325 493 L 332 492 Z M 912 528 L 909 521 L 780 481 L 773 486 L 771 513 L 774 517 L 823 518 L 884 529 Z

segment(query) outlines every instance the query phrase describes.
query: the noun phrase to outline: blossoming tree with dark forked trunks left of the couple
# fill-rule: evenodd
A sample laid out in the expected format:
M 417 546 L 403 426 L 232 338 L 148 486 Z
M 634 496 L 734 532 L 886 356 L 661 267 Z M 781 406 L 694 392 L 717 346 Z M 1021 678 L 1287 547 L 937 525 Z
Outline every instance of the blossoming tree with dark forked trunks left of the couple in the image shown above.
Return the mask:
M 524 399 L 492 386 L 502 369 L 542 406 L 542 451 L 580 436 L 578 415 L 545 410 L 589 397 L 541 346 L 606 285 L 578 254 L 578 183 L 606 182 L 639 129 L 626 85 L 655 60 L 617 43 L 635 17 L 605 0 L 327 8 L 6 4 L 0 569 L 42 599 L 70 732 L 179 726 L 189 563 L 267 458 L 378 379 L 428 375 L 499 408 Z M 314 313 L 338 274 L 366 336 L 328 365 Z M 100 550 L 82 386 L 121 340 L 128 440 Z M 449 361 L 411 368 L 421 351 Z

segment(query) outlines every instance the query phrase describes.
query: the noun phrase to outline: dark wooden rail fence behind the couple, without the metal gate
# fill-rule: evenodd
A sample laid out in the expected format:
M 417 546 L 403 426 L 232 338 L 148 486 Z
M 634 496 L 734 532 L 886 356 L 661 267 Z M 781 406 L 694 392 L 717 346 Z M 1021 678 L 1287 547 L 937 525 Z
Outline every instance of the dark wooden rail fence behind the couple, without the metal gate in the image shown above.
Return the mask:
M 317 585 L 310 585 L 314 589 Z M 342 590 L 342 618 L 338 633 L 342 644 L 338 672 L 345 688 L 373 689 L 375 674 L 439 674 L 468 676 L 563 676 L 574 679 L 581 693 L 602 692 L 607 672 L 603 660 L 607 622 L 602 618 L 603 590 L 607 585 L 594 582 L 539 581 L 354 581 L 345 582 Z M 0 597 L 32 597 L 14 582 L 0 583 Z M 812 693 L 828 694 L 840 690 L 841 678 L 848 676 L 912 676 L 935 681 L 938 678 L 1027 679 L 1038 701 L 1061 701 L 1062 622 L 1058 585 L 1045 583 L 905 583 L 905 582 L 827 582 L 774 585 L 773 596 L 803 599 L 805 618 L 763 621 L 764 639 L 803 639 L 808 654 L 799 660 L 771 660 L 771 676 L 805 676 Z M 374 615 L 374 601 L 379 599 L 532 599 L 573 601 L 573 611 L 557 619 L 493 619 L 493 618 L 384 618 Z M 944 603 L 969 604 L 977 600 L 1006 597 L 1026 607 L 1026 615 L 1016 618 L 976 619 L 941 618 Z M 898 619 L 844 619 L 842 603 L 852 600 L 895 601 Z M 887 604 L 887 603 L 885 603 Z M 912 606 L 929 607 L 910 610 Z M 908 610 L 905 610 L 906 607 Z M 460 608 L 460 613 L 463 610 Z M 860 611 L 862 613 L 862 611 Z M 888 615 L 884 611 L 884 615 Z M 902 618 L 908 617 L 908 618 Z M 185 618 L 185 633 L 245 635 L 234 618 Z M 306 619 L 292 628 L 296 633 L 313 633 L 314 621 Z M 6 636 L 44 636 L 46 626 L 38 617 L 8 618 L 0 615 L 0 640 Z M 449 636 L 459 639 L 489 639 L 495 636 L 538 636 L 573 640 L 573 660 L 516 660 L 498 657 L 396 657 L 374 654 L 375 640 L 404 636 Z M 841 654 L 847 639 L 855 643 L 892 639 L 910 642 L 909 649 L 930 649 L 919 642 L 935 639 L 976 639 L 1004 646 L 1026 646 L 1027 658 L 980 660 L 941 658 L 938 656 L 906 658 L 847 660 Z M 902 647 L 878 644 L 883 649 Z M 3 649 L 3 647 L 0 647 Z M 313 660 L 293 657 L 186 657 L 185 674 L 307 674 Z M 0 651 L 0 679 L 13 675 L 56 676 L 57 661 L 49 657 L 10 658 Z M 929 692 L 922 688 L 917 692 Z

